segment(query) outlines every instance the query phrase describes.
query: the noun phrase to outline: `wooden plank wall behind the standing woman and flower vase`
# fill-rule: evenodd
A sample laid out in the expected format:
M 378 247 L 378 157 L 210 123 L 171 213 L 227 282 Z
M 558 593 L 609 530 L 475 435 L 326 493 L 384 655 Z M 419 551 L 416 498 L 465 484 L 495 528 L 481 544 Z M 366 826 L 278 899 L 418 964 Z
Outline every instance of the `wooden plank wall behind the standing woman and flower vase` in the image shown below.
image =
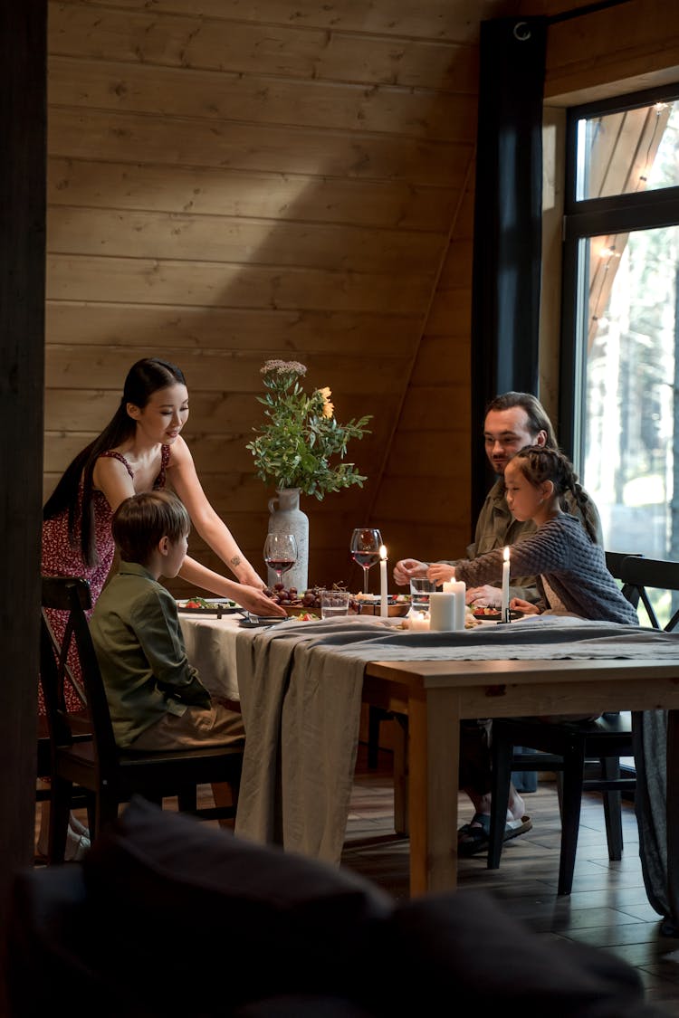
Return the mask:
M 357 586 L 369 522 L 392 561 L 462 553 L 478 21 L 506 6 L 50 3 L 46 494 L 129 365 L 167 357 L 260 565 L 274 492 L 244 446 L 289 357 L 340 420 L 374 414 L 364 488 L 303 500 L 309 581 Z

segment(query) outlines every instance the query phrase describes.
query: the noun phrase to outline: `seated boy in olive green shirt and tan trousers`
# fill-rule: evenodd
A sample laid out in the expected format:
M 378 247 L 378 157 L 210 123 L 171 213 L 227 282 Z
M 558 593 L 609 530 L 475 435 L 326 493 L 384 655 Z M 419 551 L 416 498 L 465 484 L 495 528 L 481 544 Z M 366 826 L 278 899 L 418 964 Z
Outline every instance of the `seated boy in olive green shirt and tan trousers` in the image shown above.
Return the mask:
M 244 743 L 241 716 L 213 702 L 189 665 L 174 598 L 158 582 L 176 576 L 186 556 L 190 519 L 183 504 L 165 491 L 132 495 L 118 506 L 111 529 L 120 568 L 100 595 L 90 629 L 117 744 L 163 750 Z

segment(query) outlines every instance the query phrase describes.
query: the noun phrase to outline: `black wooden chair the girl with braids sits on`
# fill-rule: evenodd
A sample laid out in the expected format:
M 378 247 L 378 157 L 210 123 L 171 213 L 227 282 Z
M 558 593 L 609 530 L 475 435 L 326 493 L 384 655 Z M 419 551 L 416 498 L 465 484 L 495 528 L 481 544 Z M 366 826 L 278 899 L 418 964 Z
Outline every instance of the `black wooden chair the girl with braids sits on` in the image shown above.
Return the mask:
M 627 600 L 645 610 L 656 629 L 673 630 L 679 622 L 677 610 L 661 627 L 654 612 L 648 588 L 679 590 L 679 563 L 646 559 L 640 555 L 607 553 L 607 565 L 621 581 Z M 643 620 L 642 620 L 643 621 Z M 537 749 L 523 759 L 514 752 L 517 745 Z M 489 869 L 497 869 L 502 854 L 505 816 L 511 771 L 522 767 L 554 771 L 557 774 L 561 806 L 561 854 L 557 894 L 570 894 L 580 823 L 582 793 L 601 792 L 604 803 L 609 858 L 622 858 L 621 795 L 633 793 L 634 775 L 623 775 L 621 756 L 632 756 L 631 716 L 605 714 L 589 724 L 546 723 L 536 718 L 503 718 L 493 723 L 493 807 L 491 815 Z M 598 761 L 598 774 L 590 770 Z

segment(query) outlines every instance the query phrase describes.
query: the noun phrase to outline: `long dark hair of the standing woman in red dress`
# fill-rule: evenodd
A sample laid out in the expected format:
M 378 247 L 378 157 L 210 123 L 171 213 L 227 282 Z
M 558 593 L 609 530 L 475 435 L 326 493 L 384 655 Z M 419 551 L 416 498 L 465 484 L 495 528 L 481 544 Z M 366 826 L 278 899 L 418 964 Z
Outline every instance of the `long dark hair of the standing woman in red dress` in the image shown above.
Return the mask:
M 158 357 L 144 357 L 132 364 L 127 373 L 120 406 L 101 435 L 86 446 L 68 464 L 57 487 L 43 507 L 43 519 L 53 519 L 64 510 L 68 511 L 68 535 L 72 547 L 79 529 L 80 553 L 87 566 L 97 564 L 98 555 L 95 541 L 95 514 L 92 505 L 92 474 L 99 456 L 115 449 L 133 435 L 136 422 L 127 413 L 127 404 L 132 403 L 139 410 L 159 389 L 173 385 L 186 385 L 183 374 L 174 364 Z M 78 492 L 82 478 L 82 499 L 77 518 Z

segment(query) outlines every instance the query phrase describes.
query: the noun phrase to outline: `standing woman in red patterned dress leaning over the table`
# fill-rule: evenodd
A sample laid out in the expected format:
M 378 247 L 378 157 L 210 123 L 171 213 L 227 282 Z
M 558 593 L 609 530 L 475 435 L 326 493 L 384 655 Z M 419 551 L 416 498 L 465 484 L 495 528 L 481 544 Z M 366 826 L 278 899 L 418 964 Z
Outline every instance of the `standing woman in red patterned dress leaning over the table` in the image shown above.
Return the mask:
M 178 367 L 158 357 L 145 357 L 132 364 L 113 418 L 75 456 L 45 504 L 42 573 L 88 579 L 95 603 L 113 563 L 114 511 L 130 495 L 162 489 L 167 484 L 185 505 L 197 532 L 237 582 L 190 558 L 186 558 L 179 573 L 182 579 L 231 598 L 259 615 L 284 615 L 284 610 L 263 592 L 264 581 L 203 491 L 193 458 L 180 434 L 187 417 L 186 381 Z M 50 613 L 50 624 L 60 637 L 65 625 L 63 613 Z M 77 678 L 76 661 L 71 659 L 69 664 Z M 67 710 L 82 708 L 70 685 L 64 693 Z M 44 713 L 42 690 L 39 698 L 39 710 Z

